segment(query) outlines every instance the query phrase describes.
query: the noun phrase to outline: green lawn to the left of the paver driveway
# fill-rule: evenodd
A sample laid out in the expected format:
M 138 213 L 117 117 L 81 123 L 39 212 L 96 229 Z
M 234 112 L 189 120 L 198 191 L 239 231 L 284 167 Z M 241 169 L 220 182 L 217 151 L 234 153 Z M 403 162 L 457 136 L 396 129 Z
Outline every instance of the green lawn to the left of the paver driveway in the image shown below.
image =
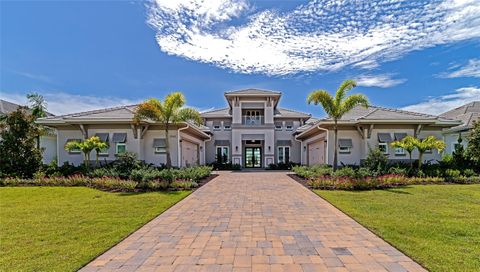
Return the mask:
M 189 192 L 0 188 L 0 271 L 73 271 Z

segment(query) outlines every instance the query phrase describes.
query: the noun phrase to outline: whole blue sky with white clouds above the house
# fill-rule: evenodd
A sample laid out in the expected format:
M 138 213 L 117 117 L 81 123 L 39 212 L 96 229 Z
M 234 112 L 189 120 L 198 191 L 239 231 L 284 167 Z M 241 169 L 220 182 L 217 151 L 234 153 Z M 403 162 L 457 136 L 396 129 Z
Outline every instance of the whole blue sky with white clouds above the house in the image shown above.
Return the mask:
M 0 13 L 0 97 L 35 91 L 56 114 L 177 90 L 221 108 L 224 91 L 256 87 L 322 116 L 307 94 L 349 78 L 386 107 L 480 100 L 479 1 L 2 1 Z

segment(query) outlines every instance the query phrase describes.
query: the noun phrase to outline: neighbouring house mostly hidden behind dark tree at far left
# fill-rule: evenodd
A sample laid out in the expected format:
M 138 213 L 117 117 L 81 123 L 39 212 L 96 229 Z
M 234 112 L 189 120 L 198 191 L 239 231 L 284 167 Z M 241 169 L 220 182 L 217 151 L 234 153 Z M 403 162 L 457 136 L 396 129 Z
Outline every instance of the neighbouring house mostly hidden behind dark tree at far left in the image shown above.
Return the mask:
M 0 115 L 9 114 L 21 107 L 21 105 L 0 99 Z M 54 116 L 47 112 L 47 116 Z M 42 149 L 42 162 L 50 163 L 57 157 L 57 136 L 54 130 L 46 130 L 46 133 L 40 136 L 40 148 Z

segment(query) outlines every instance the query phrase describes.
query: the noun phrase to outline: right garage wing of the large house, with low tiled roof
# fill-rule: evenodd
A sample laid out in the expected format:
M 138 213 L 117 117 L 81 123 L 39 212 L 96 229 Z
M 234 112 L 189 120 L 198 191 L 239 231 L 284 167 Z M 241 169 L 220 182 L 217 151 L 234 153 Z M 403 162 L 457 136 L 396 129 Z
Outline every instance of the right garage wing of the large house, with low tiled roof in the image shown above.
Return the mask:
M 379 148 L 391 162 L 407 162 L 408 154 L 401 148 L 392 148 L 392 141 L 407 135 L 426 138 L 433 135 L 442 139 L 443 129 L 457 126 L 460 122 L 435 115 L 388 109 L 376 106 L 357 106 L 338 120 L 338 164 L 359 165 L 370 149 Z M 301 163 L 333 164 L 334 130 L 331 118 L 308 122 L 296 131 L 301 141 Z M 412 159 L 418 159 L 414 151 Z M 441 154 L 430 151 L 425 161 L 440 160 Z

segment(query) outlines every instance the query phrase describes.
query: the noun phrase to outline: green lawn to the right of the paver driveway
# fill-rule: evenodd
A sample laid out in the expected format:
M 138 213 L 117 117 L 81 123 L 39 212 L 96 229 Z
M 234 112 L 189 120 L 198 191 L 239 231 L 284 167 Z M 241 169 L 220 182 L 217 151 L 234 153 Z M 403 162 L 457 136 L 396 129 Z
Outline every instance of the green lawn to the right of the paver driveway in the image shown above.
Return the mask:
M 317 194 L 431 271 L 480 271 L 480 185 Z

